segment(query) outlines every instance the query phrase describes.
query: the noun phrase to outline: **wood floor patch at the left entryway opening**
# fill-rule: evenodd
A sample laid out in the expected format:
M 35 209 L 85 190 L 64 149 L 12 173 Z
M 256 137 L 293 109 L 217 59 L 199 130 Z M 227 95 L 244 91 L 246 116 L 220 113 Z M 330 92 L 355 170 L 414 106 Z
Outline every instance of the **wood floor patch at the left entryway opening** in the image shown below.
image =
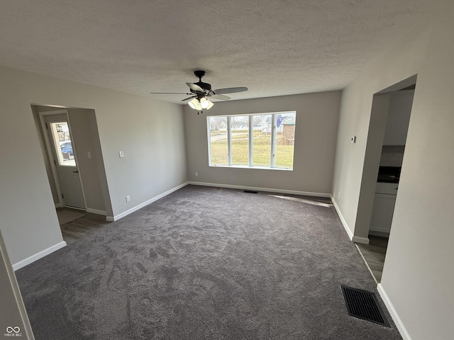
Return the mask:
M 95 232 L 110 223 L 111 222 L 106 221 L 105 216 L 87 212 L 86 215 L 79 217 L 76 220 L 60 225 L 60 228 L 62 229 L 63 240 L 67 244 L 71 244 L 81 237 L 92 234 L 92 232 Z

